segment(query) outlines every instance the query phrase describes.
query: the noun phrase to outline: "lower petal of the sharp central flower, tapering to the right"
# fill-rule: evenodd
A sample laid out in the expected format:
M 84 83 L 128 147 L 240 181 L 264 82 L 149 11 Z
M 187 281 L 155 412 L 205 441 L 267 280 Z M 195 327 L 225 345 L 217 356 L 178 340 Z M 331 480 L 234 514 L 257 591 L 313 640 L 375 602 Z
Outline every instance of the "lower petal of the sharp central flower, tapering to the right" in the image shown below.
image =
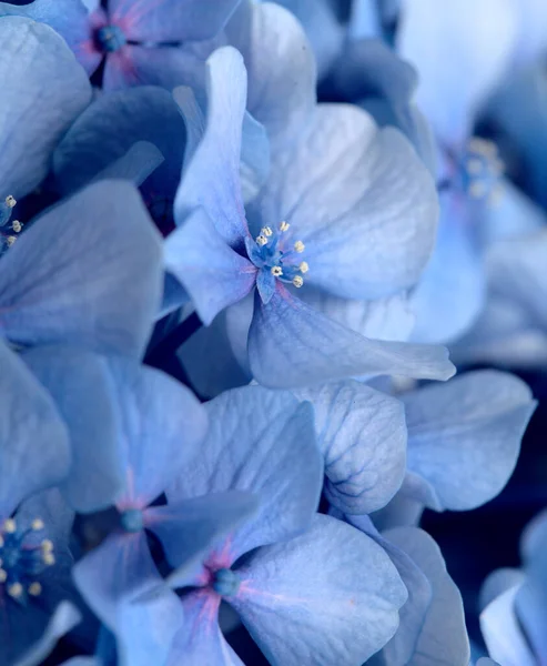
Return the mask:
M 368 340 L 280 286 L 267 305 L 255 297 L 249 356 L 255 379 L 273 389 L 365 374 L 440 380 L 454 374 L 443 347 Z

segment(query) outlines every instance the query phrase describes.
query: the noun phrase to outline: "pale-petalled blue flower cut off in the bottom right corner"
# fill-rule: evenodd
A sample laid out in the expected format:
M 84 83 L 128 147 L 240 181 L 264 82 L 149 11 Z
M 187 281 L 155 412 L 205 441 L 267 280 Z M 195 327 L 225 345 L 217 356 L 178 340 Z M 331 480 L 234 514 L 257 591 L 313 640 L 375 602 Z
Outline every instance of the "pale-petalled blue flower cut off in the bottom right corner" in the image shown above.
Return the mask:
M 490 657 L 504 666 L 539 666 L 547 658 L 546 545 L 543 512 L 523 534 L 523 568 L 494 572 L 482 591 L 483 636 Z

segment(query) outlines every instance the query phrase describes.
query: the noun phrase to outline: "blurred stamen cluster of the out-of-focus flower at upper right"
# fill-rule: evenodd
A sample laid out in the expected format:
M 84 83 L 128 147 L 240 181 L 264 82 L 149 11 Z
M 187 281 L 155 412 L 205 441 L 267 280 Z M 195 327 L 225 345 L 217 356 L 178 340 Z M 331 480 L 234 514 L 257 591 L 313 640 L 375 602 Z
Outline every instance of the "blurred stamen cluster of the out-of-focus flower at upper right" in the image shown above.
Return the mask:
M 460 163 L 462 186 L 472 199 L 495 204 L 502 192 L 504 163 L 492 141 L 474 137 Z

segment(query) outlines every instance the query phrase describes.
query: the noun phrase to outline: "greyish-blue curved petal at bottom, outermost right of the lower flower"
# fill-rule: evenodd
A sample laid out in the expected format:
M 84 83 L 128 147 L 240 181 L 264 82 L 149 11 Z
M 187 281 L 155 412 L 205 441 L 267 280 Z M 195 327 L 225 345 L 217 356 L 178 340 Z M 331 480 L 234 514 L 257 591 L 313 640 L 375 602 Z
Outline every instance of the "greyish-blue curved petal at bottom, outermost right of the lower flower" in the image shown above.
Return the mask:
M 437 544 L 426 532 L 415 527 L 389 529 L 383 536 L 413 559 L 432 586 L 432 603 L 418 636 L 412 636 L 414 650 L 408 664 L 467 666 L 470 648 L 462 595 L 446 571 Z M 389 659 L 387 663 L 393 664 Z

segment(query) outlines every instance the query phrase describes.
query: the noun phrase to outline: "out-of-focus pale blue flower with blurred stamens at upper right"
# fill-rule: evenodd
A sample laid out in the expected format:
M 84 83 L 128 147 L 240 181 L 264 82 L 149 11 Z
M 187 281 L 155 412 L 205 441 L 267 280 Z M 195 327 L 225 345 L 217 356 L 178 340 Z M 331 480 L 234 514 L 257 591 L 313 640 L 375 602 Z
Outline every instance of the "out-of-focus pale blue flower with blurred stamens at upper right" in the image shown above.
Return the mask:
M 439 234 L 413 300 L 417 341 L 456 341 L 469 330 L 485 303 L 483 259 L 492 234 L 506 232 L 508 219 L 513 230 L 528 228 L 528 206 L 503 178 L 496 145 L 473 137 L 478 112 L 511 62 L 515 7 L 409 0 L 402 11 L 396 47 L 419 72 L 416 102 L 440 149 Z

